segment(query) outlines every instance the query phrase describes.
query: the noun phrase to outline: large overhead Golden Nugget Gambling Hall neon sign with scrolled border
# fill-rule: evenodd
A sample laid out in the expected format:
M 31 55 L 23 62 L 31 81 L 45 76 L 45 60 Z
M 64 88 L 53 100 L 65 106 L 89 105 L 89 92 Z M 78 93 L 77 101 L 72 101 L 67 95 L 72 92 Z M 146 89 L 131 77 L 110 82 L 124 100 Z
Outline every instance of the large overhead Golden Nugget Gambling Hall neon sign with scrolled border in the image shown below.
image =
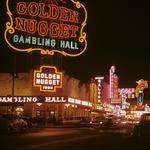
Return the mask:
M 87 11 L 76 0 L 6 0 L 4 33 L 16 51 L 79 56 L 87 47 Z

